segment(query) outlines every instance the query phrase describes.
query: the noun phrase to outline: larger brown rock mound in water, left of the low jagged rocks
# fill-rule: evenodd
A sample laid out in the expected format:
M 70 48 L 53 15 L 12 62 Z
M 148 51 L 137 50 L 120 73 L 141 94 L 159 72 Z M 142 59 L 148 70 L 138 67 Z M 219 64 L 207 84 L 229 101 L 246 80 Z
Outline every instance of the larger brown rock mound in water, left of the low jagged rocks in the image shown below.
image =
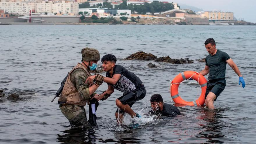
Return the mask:
M 125 58 L 125 60 L 142 60 L 142 61 L 152 61 L 155 59 L 157 59 L 157 56 L 154 56 L 153 54 L 147 54 L 143 51 L 138 51 Z

